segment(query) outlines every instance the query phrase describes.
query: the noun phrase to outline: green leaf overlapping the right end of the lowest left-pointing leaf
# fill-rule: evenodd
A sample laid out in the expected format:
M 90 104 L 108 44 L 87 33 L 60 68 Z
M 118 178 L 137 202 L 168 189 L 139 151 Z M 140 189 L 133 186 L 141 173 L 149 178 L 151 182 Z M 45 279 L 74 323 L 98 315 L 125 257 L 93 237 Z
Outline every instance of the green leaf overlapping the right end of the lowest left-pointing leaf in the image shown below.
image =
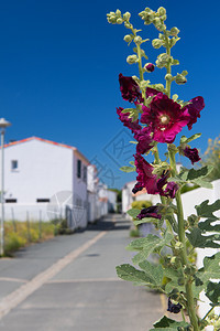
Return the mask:
M 150 263 L 148 260 L 144 260 L 139 264 L 140 268 L 144 270 L 145 275 L 151 280 L 152 286 L 160 287 L 163 280 L 163 268 L 161 265 L 155 265 Z

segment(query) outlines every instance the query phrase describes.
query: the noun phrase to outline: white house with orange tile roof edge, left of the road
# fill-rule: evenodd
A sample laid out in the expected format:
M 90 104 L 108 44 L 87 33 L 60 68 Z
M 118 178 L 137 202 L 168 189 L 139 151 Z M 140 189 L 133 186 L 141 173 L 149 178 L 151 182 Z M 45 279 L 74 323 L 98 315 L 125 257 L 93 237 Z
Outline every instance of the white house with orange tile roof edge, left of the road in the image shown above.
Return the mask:
M 31 137 L 4 146 L 6 217 L 87 225 L 87 167 L 75 147 Z

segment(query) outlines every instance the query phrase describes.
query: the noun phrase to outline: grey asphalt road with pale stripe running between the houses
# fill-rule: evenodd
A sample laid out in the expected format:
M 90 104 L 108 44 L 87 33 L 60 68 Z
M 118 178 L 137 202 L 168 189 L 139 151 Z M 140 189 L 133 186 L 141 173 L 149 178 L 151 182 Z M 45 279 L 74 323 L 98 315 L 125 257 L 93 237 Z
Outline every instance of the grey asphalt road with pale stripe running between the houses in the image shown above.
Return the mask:
M 130 223 L 108 215 L 0 260 L 2 331 L 147 331 L 163 316 L 160 295 L 120 280 L 131 263 Z

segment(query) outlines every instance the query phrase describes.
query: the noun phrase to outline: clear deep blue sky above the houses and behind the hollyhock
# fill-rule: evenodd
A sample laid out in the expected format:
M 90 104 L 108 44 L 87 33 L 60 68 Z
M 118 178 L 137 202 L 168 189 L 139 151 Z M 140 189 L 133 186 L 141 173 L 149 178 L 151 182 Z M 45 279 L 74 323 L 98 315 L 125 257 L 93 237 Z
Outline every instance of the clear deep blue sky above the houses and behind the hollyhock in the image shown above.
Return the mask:
M 219 1 L 131 0 L 8 0 L 0 3 L 0 117 L 12 122 L 7 141 L 37 136 L 76 146 L 99 164 L 100 177 L 121 188 L 134 173 L 118 168 L 134 151 L 129 130 L 118 120 L 122 102 L 118 74 L 138 74 L 125 58 L 132 53 L 123 41 L 123 25 L 107 22 L 109 11 L 132 13 L 131 21 L 151 40 L 156 30 L 143 24 L 138 13 L 145 7 L 167 9 L 167 26 L 182 38 L 173 49 L 187 70 L 188 83 L 173 85 L 173 94 L 188 100 L 204 96 L 206 108 L 189 132 L 202 131 L 193 147 L 204 152 L 208 138 L 219 135 Z M 157 51 L 146 44 L 150 61 Z M 156 83 L 164 71 L 151 74 Z M 158 82 L 162 83 L 162 82 Z M 124 146 L 123 146 L 124 145 Z M 127 161 L 128 162 L 128 161 Z M 119 164 L 119 166 L 118 166 Z

